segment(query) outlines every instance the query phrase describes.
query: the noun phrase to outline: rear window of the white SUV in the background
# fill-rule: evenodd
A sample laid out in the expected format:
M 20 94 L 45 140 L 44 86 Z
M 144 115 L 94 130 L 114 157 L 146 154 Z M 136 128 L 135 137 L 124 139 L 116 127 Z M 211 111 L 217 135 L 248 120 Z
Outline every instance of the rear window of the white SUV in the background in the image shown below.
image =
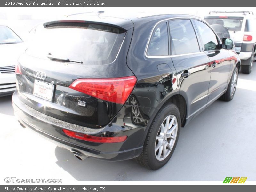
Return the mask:
M 243 18 L 205 18 L 210 25 L 219 24 L 229 31 L 241 31 Z

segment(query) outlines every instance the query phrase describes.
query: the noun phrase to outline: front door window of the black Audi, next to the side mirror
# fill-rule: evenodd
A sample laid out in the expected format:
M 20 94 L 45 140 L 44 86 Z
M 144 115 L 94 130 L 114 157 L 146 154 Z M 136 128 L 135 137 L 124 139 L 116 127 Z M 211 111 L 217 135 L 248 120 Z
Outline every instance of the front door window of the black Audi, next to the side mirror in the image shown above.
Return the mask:
M 204 44 L 204 50 L 210 51 L 218 48 L 218 41 L 215 33 L 212 29 L 201 21 L 195 20 L 196 26 L 199 30 L 199 33 L 202 37 L 202 41 Z

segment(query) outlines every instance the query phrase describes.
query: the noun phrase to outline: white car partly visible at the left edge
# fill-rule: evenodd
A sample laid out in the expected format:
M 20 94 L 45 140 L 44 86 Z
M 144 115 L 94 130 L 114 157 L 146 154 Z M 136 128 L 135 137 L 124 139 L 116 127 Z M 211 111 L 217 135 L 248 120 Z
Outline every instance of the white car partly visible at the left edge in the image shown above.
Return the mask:
M 0 96 L 11 95 L 16 89 L 15 66 L 22 51 L 22 39 L 11 28 L 0 25 Z

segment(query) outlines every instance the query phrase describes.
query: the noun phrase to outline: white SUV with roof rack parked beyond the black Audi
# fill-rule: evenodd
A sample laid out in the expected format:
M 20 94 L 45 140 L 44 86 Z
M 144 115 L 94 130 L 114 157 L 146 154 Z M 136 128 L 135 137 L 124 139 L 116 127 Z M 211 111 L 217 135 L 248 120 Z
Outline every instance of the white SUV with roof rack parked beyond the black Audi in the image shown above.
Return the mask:
M 220 39 L 234 41 L 234 51 L 241 59 L 242 73 L 249 74 L 256 60 L 256 17 L 252 11 L 221 12 L 210 11 L 204 17 L 216 31 Z

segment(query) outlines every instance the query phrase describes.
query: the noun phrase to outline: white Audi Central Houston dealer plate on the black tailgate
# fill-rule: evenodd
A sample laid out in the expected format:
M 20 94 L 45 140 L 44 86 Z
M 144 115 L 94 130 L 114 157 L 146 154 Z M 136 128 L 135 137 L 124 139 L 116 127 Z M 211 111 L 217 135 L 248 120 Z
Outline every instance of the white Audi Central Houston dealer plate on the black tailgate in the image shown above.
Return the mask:
M 54 85 L 43 81 L 35 80 L 33 95 L 42 99 L 52 101 Z

